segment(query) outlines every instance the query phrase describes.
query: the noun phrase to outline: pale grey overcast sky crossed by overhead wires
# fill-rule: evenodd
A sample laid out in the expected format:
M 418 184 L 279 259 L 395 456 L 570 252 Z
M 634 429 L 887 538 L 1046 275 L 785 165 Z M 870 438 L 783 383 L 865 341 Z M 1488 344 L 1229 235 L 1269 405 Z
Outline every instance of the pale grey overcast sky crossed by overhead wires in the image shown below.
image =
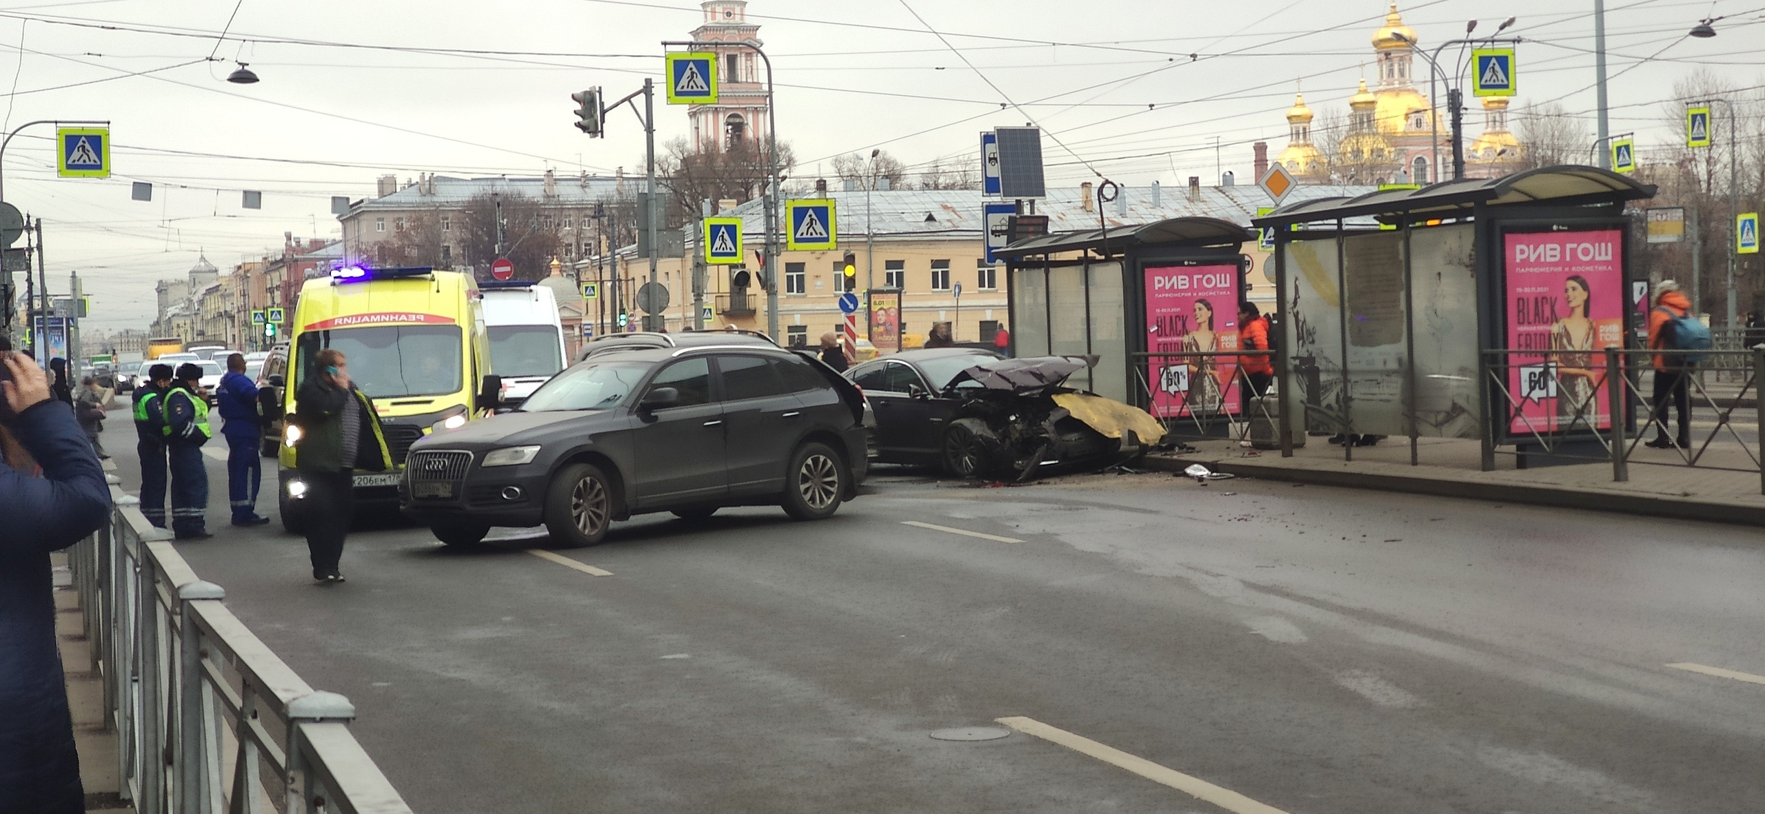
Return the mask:
M 1756 5 L 1606 5 L 1610 72 L 1622 72 L 1611 88 L 1611 127 L 1638 131 L 1641 150 L 1675 138 L 1661 102 L 1675 78 L 1712 65 L 1737 85 L 1760 85 L 1758 51 L 1744 44 L 1753 34 L 1746 26 L 1758 25 Z M 923 32 L 909 7 L 960 57 Z M 1518 104 L 1562 97 L 1592 131 L 1590 9 L 1590 0 L 1401 7 L 1430 49 L 1463 32 L 1468 18 L 1488 32 L 1520 16 L 1513 32 L 1536 42 L 1520 48 Z M 660 78 L 658 42 L 681 39 L 701 18 L 692 0 L 244 0 L 233 39 L 215 49 L 231 11 L 233 0 L 25 0 L 0 9 L 0 92 L 16 85 L 21 94 L 11 97 L 9 127 L 56 117 L 113 122 L 109 180 L 55 178 L 49 127 L 14 139 L 4 168 L 7 200 L 46 221 L 51 290 L 64 291 L 78 268 L 102 330 L 146 327 L 154 281 L 187 270 L 198 251 L 229 268 L 279 247 L 282 231 L 337 235 L 328 198 L 369 196 L 381 173 L 641 173 L 637 120 L 620 111 L 609 138 L 590 139 L 570 127 L 568 95 L 602 85 L 618 97 L 646 74 Z M 833 155 L 874 145 L 909 164 L 962 161 L 974 154 L 978 131 L 1034 120 L 1071 148 L 1045 141 L 1050 184 L 1093 178 L 1082 159 L 1142 185 L 1190 175 L 1211 184 L 1216 138 L 1223 168 L 1250 182 L 1248 141 L 1280 150 L 1296 79 L 1320 115 L 1345 108 L 1373 60 L 1368 37 L 1386 4 L 754 0 L 748 12 L 777 67 L 778 131 L 796 147 L 798 178 L 817 168 L 831 173 Z M 1717 39 L 1682 37 L 1709 14 L 1735 18 L 1719 23 Z M 270 41 L 653 57 L 473 57 Z M 1633 69 L 1663 48 L 1657 62 Z M 228 62 L 173 67 L 210 51 Z M 263 81 L 222 81 L 235 58 Z M 118 78 L 154 69 L 164 71 Z M 94 79 L 108 81 L 34 92 Z M 1001 109 L 1001 92 L 1024 111 Z M 685 132 L 685 108 L 658 111 L 658 141 Z M 1476 113 L 1468 127 L 1481 127 Z M 152 203 L 129 200 L 132 180 L 155 185 Z M 261 210 L 240 208 L 244 189 L 263 191 Z

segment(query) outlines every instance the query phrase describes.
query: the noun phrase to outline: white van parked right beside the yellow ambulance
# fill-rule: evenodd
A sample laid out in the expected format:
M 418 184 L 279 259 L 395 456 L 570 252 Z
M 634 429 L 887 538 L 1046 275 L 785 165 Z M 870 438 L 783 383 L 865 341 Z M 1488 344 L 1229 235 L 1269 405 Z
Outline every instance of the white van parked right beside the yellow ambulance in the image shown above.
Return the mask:
M 503 401 L 517 404 L 565 367 L 558 298 L 538 283 L 480 283 L 491 334 L 491 373 L 503 378 Z

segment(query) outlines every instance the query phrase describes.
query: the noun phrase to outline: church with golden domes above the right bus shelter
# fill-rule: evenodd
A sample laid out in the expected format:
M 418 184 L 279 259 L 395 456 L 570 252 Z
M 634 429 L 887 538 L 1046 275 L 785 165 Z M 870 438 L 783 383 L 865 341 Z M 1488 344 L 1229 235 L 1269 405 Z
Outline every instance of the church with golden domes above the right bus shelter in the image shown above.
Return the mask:
M 1348 115 L 1340 124 L 1313 127 L 1304 94 L 1287 111 L 1287 148 L 1276 155 L 1288 171 L 1310 184 L 1433 184 L 1453 177 L 1453 127 L 1442 109 L 1438 161 L 1435 124 L 1428 97 L 1417 90 L 1416 30 L 1403 25 L 1391 4 L 1386 25 L 1373 32 L 1378 87 L 1348 97 Z M 1428 79 L 1423 64 L 1421 81 Z M 1446 78 L 1440 81 L 1446 95 Z M 1442 102 L 1442 108 L 1446 104 Z M 1468 125 L 1468 118 L 1467 118 Z M 1507 99 L 1483 99 L 1483 132 L 1465 145 L 1465 177 L 1495 178 L 1518 168 L 1520 139 L 1507 129 Z

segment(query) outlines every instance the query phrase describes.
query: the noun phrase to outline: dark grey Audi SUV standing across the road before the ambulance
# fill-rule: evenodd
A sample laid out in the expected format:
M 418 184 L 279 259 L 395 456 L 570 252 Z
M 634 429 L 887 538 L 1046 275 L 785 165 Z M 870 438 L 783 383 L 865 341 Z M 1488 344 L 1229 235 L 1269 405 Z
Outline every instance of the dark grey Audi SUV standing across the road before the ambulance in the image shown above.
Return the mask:
M 515 411 L 411 445 L 401 507 L 450 546 L 540 524 L 593 546 L 635 514 L 736 505 L 822 519 L 867 473 L 861 418 L 856 387 L 777 346 L 598 353 Z

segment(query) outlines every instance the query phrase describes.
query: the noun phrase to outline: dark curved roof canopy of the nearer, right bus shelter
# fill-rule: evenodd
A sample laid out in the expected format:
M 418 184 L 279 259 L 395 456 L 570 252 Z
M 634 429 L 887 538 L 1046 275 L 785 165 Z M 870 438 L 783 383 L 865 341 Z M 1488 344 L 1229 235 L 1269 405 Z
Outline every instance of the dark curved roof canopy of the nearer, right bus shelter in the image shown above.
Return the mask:
M 1527 170 L 1500 178 L 1458 178 L 1421 189 L 1384 189 L 1359 198 L 1315 198 L 1288 203 L 1253 222 L 1257 226 L 1280 228 L 1348 217 L 1378 217 L 1380 221 L 1401 221 L 1405 217 L 1446 219 L 1468 215 L 1479 203 L 1484 207 L 1581 207 L 1654 198 L 1654 185 L 1640 184 L 1611 170 L 1564 164 Z

